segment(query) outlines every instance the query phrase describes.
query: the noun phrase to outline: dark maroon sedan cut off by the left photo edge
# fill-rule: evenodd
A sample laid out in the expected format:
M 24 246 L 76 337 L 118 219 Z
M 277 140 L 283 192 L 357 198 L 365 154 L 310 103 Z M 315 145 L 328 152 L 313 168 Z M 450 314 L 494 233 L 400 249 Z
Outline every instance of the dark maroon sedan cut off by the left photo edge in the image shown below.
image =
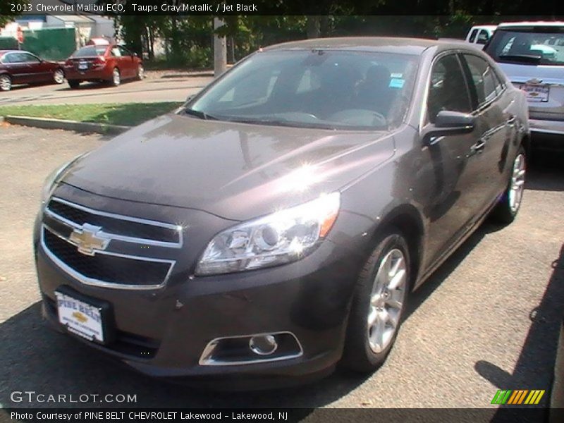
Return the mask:
M 65 80 L 59 63 L 39 59 L 23 50 L 0 50 L 0 90 L 9 91 L 12 85 L 56 82 Z

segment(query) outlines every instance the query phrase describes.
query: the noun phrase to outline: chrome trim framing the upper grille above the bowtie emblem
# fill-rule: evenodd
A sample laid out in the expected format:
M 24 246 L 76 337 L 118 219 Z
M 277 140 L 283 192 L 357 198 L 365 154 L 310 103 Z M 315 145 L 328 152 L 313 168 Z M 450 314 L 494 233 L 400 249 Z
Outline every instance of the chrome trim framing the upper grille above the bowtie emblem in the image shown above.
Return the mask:
M 177 243 L 171 243 L 171 242 L 168 242 L 168 241 L 157 241 L 157 240 L 150 240 L 150 239 L 146 239 L 146 238 L 136 238 L 136 237 L 128 236 L 128 235 L 117 235 L 115 233 L 106 232 L 106 231 L 104 231 L 104 228 L 102 228 L 102 231 L 100 231 L 99 233 L 102 236 L 109 238 L 110 240 L 120 240 L 120 241 L 125 241 L 126 243 L 137 243 L 137 244 L 144 244 L 144 245 L 154 245 L 156 247 L 171 247 L 171 248 L 181 248 L 183 246 L 183 243 L 184 243 L 184 235 L 183 235 L 183 231 L 182 231 L 182 226 L 179 226 L 179 225 L 173 225 L 172 223 L 164 223 L 164 222 L 159 222 L 159 221 L 152 221 L 152 220 L 149 220 L 149 219 L 140 219 L 140 218 L 131 217 L 131 216 L 123 216 L 122 214 L 100 212 L 99 210 L 90 209 L 89 207 L 81 206 L 80 204 L 75 204 L 73 202 L 63 200 L 62 198 L 59 198 L 59 197 L 51 197 L 51 199 L 49 199 L 49 202 L 51 202 L 51 201 L 56 201 L 56 202 L 59 202 L 61 204 L 65 204 L 69 207 L 73 207 L 75 209 L 82 210 L 83 212 L 96 214 L 97 216 L 109 217 L 109 218 L 116 219 L 116 220 L 130 221 L 130 222 L 133 222 L 133 223 L 142 223 L 142 224 L 149 225 L 149 226 L 159 226 L 161 228 L 172 229 L 173 231 L 176 231 L 178 233 L 178 242 Z M 55 212 L 51 211 L 49 209 L 49 202 L 47 203 L 47 206 L 45 207 L 45 213 L 49 214 L 49 216 L 51 216 L 53 219 L 61 221 L 62 223 L 65 223 L 67 226 L 71 226 L 71 228 L 73 228 L 73 229 L 82 228 L 82 225 L 79 225 L 78 223 L 70 221 L 70 220 L 64 218 L 63 216 L 56 214 Z

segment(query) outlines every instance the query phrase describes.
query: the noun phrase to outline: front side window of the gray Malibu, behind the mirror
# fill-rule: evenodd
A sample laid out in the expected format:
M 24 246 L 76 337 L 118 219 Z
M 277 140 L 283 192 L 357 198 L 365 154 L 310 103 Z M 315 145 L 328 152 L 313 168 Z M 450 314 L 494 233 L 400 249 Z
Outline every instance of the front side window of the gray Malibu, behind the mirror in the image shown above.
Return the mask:
M 460 62 L 455 54 L 437 60 L 431 71 L 427 112 L 429 121 L 434 123 L 441 110 L 472 111 L 472 102 Z

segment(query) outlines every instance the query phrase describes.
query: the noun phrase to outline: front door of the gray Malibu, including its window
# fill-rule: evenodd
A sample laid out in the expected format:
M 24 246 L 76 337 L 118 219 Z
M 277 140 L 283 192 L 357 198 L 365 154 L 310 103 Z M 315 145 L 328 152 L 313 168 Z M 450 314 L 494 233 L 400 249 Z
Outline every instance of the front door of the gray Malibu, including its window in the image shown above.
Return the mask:
M 433 125 L 439 111 L 472 113 L 472 99 L 458 54 L 435 59 L 427 99 L 427 123 Z M 464 233 L 482 202 L 479 162 L 474 147 L 479 138 L 475 130 L 460 135 L 445 135 L 425 140 L 425 159 L 430 164 L 426 181 L 431 190 L 426 205 L 429 220 L 427 265 L 434 263 Z

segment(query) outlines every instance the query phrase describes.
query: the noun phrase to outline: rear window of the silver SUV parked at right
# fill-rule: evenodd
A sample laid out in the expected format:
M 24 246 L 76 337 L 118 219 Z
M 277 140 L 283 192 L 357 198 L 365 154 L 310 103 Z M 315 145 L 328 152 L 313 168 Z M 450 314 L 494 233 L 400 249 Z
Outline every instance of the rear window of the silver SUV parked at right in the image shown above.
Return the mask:
M 497 30 L 486 51 L 500 62 L 564 65 L 564 27 Z

